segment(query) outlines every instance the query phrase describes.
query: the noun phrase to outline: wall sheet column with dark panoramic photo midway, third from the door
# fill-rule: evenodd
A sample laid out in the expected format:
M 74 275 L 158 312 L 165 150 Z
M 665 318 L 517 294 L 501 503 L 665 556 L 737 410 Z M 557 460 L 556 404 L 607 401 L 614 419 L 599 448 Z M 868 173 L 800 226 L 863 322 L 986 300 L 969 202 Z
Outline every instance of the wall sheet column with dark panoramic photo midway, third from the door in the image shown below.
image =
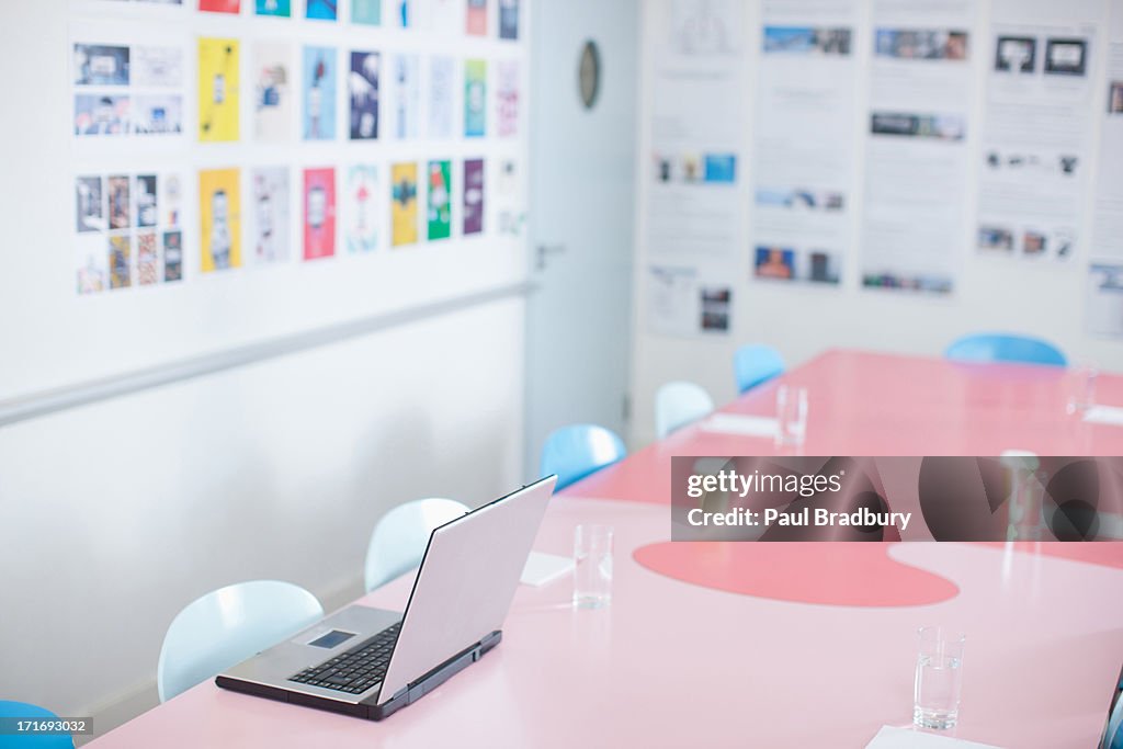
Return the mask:
M 949 293 L 967 225 L 975 0 L 875 0 L 862 285 Z

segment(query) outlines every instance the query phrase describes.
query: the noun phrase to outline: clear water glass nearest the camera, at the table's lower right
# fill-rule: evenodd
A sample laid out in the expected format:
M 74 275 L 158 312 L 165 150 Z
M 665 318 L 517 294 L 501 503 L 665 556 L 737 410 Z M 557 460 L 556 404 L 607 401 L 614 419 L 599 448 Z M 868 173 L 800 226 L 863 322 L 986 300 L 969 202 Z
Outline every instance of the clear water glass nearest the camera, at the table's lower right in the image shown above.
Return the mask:
M 930 729 L 955 728 L 959 720 L 965 637 L 941 627 L 922 627 L 919 633 L 913 723 Z

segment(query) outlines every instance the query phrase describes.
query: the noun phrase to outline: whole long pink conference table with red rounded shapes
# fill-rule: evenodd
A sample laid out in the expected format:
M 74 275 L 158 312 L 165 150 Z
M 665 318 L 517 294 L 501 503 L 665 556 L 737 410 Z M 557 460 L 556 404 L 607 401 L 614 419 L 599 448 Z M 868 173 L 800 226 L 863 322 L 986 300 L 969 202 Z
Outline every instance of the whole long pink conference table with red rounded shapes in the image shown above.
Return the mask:
M 1075 453 L 1066 439 L 1119 453 L 1123 433 L 1108 428 L 1056 435 L 1058 376 L 832 351 L 786 380 L 811 389 L 809 454 Z M 1123 403 L 1123 381 L 1105 378 L 1101 393 Z M 769 398 L 727 410 L 765 413 Z M 1096 550 L 1072 559 L 968 544 L 668 542 L 670 455 L 769 449 L 692 428 L 572 487 L 536 548 L 568 554 L 577 523 L 612 524 L 612 605 L 572 610 L 566 582 L 520 586 L 499 648 L 382 723 L 208 682 L 91 746 L 864 747 L 880 725 L 909 722 L 914 632 L 930 623 L 968 637 L 960 738 L 1095 745 L 1123 663 L 1119 545 L 1084 545 Z M 699 570 L 734 585 L 678 578 Z M 791 585 L 769 592 L 777 576 Z M 399 579 L 359 602 L 400 608 L 408 588 Z

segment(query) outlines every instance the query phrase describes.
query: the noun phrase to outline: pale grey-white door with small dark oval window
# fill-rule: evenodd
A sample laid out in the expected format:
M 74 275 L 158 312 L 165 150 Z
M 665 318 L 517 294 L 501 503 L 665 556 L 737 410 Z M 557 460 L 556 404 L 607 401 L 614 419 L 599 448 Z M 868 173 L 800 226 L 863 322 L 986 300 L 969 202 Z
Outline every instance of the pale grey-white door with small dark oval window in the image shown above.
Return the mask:
M 550 430 L 627 429 L 638 0 L 537 0 L 531 40 L 527 463 Z M 595 55 L 585 54 L 588 43 Z M 582 97 L 599 67 L 591 107 Z M 596 57 L 594 65 L 591 57 Z

